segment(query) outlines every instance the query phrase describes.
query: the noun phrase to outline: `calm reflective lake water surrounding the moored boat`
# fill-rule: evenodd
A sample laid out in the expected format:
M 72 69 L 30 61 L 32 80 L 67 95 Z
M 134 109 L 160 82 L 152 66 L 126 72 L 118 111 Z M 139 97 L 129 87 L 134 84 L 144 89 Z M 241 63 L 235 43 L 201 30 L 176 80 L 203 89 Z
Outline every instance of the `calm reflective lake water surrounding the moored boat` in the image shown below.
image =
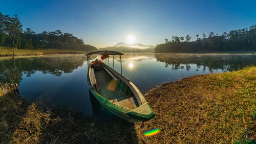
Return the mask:
M 93 56 L 92 60 L 100 60 Z M 103 60 L 113 68 L 113 59 Z M 256 55 L 153 54 L 124 53 L 122 74 L 142 93 L 156 85 L 181 78 L 239 70 L 256 64 Z M 120 58 L 114 57 L 119 73 Z M 84 54 L 37 57 L 0 57 L 0 82 L 18 83 L 20 95 L 29 101 L 41 101 L 48 107 L 76 109 L 92 116 L 87 84 L 87 57 Z

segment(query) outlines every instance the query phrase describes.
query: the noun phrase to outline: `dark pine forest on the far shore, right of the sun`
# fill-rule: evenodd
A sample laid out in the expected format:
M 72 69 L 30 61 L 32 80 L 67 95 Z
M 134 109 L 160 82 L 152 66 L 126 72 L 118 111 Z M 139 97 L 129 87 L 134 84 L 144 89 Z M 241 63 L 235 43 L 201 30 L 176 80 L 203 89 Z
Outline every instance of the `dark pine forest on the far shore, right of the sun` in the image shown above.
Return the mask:
M 191 37 L 172 36 L 171 40 L 157 44 L 155 53 L 212 53 L 230 51 L 256 51 L 256 25 L 245 29 L 224 32 L 222 35 L 210 32 L 209 36 L 203 33 L 200 38 L 191 41 Z

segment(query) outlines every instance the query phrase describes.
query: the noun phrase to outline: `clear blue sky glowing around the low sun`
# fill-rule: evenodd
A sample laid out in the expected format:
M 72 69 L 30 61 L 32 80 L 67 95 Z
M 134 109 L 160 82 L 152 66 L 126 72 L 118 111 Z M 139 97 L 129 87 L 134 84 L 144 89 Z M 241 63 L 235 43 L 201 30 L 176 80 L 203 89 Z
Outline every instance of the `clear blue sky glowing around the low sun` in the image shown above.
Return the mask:
M 5 1 L 0 12 L 17 14 L 23 29 L 61 30 L 97 48 L 129 42 L 163 43 L 174 36 L 229 32 L 256 25 L 256 1 Z

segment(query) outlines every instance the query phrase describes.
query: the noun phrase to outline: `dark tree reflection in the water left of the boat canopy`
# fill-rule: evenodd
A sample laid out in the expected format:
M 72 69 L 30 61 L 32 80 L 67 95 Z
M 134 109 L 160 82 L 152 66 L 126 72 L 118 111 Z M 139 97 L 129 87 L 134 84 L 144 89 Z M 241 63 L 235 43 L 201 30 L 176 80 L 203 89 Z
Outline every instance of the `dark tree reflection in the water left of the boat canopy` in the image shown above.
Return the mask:
M 96 56 L 92 57 L 94 59 Z M 42 74 L 61 76 L 63 73 L 72 73 L 74 69 L 81 67 L 87 57 L 82 55 L 41 56 L 0 59 L 0 83 L 20 83 L 22 76 L 31 77 L 36 71 Z

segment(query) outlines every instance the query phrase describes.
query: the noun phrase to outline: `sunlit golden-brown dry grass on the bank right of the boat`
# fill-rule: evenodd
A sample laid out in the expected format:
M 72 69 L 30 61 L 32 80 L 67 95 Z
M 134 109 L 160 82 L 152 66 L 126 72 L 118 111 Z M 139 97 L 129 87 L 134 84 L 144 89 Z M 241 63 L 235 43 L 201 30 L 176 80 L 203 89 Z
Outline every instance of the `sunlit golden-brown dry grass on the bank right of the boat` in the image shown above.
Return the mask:
M 256 142 L 256 67 L 194 76 L 145 94 L 156 116 L 144 129 L 160 128 L 150 143 Z M 254 114 L 254 116 L 253 116 Z M 140 143 L 146 143 L 136 124 Z

